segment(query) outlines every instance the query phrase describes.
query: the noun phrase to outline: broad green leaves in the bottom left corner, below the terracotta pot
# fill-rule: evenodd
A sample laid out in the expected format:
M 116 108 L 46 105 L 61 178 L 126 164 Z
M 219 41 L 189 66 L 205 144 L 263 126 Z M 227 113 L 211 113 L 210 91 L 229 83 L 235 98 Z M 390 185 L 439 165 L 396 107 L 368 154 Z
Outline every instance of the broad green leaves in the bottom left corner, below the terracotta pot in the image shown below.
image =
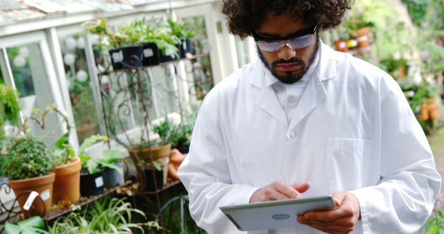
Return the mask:
M 5 231 L 8 234 L 47 234 L 48 232 L 45 231 L 44 228 L 44 220 L 39 216 L 24 219 L 17 224 L 6 222 L 5 225 Z

